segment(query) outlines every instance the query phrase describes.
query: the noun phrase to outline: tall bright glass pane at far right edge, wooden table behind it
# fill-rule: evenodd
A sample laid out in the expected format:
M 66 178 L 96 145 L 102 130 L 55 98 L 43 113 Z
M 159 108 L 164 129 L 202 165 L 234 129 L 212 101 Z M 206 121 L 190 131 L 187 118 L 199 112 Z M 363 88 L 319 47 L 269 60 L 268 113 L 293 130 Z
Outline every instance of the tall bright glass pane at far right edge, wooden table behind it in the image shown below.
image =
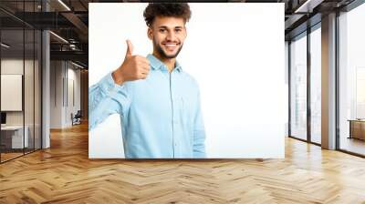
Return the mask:
M 339 149 L 365 156 L 365 4 L 339 15 Z

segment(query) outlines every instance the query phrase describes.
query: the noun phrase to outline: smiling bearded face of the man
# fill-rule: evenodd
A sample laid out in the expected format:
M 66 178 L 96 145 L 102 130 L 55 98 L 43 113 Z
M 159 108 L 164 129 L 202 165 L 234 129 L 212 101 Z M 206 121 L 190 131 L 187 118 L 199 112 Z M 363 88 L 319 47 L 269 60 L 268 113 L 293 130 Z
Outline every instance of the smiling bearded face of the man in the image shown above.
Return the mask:
M 186 37 L 183 18 L 156 16 L 147 32 L 153 43 L 153 53 L 162 58 L 179 55 Z

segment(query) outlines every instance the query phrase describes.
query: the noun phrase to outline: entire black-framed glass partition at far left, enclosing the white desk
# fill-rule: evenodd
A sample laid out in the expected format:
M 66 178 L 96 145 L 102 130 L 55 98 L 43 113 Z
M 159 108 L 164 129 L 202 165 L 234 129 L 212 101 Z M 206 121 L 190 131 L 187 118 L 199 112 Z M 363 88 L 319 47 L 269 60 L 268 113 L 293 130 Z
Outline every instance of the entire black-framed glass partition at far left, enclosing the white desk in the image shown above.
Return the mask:
M 26 3 L 26 5 L 24 5 Z M 40 1 L 1 1 L 16 15 Z M 9 13 L 10 14 L 10 13 Z M 41 148 L 41 32 L 0 11 L 0 162 Z

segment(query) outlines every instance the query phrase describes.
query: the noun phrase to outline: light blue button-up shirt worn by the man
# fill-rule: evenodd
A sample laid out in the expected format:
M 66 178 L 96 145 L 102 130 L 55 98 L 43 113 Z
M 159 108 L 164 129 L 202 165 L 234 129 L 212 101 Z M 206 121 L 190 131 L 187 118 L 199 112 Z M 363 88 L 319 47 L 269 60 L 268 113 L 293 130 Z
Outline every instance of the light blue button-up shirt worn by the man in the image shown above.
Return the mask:
M 118 113 L 126 158 L 205 158 L 197 82 L 177 62 L 169 73 L 158 58 L 147 58 L 146 79 L 120 86 L 110 73 L 89 88 L 89 129 Z

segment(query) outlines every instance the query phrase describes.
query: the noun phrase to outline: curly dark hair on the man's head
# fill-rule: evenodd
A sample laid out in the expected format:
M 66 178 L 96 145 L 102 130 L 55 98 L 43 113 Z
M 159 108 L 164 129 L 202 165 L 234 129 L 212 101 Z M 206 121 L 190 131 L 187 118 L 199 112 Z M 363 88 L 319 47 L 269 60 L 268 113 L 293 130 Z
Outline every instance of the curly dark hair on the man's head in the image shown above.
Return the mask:
M 192 16 L 190 6 L 187 3 L 150 3 L 143 12 L 147 26 L 153 24 L 156 16 L 182 17 L 186 22 Z

